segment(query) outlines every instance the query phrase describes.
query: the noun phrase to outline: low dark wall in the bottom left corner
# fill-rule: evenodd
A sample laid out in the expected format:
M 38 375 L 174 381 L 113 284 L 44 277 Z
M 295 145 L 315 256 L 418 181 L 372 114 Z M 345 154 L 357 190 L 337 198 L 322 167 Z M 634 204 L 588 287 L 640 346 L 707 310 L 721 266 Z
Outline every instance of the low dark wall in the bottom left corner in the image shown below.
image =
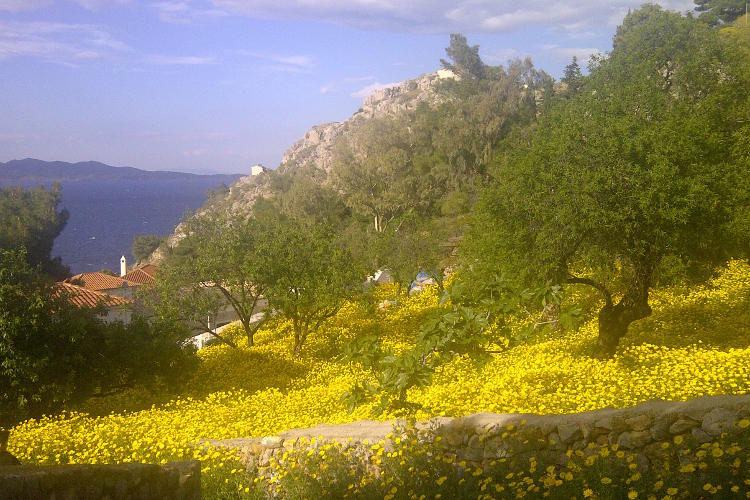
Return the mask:
M 198 499 L 200 462 L 0 467 L 0 499 Z

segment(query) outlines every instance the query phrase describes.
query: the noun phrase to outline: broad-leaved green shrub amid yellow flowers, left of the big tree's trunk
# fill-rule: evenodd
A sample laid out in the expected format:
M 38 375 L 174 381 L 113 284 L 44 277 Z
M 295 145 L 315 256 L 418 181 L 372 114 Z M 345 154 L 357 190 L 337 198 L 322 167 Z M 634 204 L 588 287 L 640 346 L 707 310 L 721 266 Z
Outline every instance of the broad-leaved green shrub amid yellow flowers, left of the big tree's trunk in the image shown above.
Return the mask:
M 374 382 L 356 382 L 344 394 L 349 411 L 371 400 L 377 402 L 372 410 L 376 416 L 387 412 L 408 415 L 423 409 L 408 399 L 409 391 L 430 385 L 435 371 L 454 358 L 467 356 L 481 365 L 490 361 L 490 354 L 499 352 L 498 348 L 528 342 L 549 327 L 575 328 L 580 309 L 567 307 L 561 312 L 562 298 L 559 286 L 519 292 L 500 276 L 455 278 L 443 292 L 442 307 L 420 320 L 411 348 L 396 351 L 386 347 L 377 331 L 366 332 L 345 347 L 344 361 L 359 363 L 375 376 Z M 556 312 L 554 317 L 550 317 L 550 309 Z M 539 319 L 531 318 L 529 311 L 539 311 Z M 513 318 L 515 321 L 508 322 Z M 527 319 L 526 326 L 519 327 L 518 318 Z

